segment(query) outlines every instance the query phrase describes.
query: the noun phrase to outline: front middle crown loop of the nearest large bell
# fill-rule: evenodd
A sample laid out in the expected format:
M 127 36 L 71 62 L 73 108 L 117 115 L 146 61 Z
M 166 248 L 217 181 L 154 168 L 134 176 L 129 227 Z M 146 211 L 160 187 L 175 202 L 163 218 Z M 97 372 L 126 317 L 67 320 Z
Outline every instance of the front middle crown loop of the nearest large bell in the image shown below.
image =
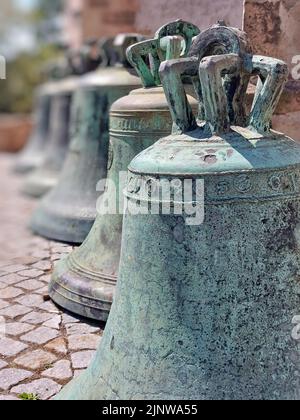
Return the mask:
M 202 86 L 206 126 L 212 135 L 230 131 L 228 95 L 224 86 L 224 76 L 229 75 L 239 86 L 239 74 L 243 60 L 238 54 L 224 54 L 205 57 L 199 66 Z

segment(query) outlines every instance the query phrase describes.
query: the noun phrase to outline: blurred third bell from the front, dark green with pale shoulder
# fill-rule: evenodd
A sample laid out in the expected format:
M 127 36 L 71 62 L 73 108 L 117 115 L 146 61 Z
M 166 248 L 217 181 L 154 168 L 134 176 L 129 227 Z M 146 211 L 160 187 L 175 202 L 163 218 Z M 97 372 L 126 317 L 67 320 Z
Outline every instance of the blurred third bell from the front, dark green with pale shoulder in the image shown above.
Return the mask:
M 116 52 L 139 35 L 118 36 Z M 81 78 L 74 93 L 71 144 L 59 181 L 33 214 L 31 228 L 41 236 L 81 244 L 96 218 L 99 180 L 107 176 L 109 109 L 118 98 L 140 86 L 120 62 Z

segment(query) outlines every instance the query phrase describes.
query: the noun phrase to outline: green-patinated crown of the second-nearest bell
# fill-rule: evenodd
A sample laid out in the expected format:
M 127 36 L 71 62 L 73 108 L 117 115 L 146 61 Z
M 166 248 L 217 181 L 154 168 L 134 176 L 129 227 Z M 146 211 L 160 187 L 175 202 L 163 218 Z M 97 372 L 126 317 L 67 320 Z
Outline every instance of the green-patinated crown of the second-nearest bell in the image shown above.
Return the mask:
M 161 85 L 159 67 L 164 60 L 187 56 L 200 29 L 192 23 L 176 20 L 162 26 L 153 39 L 132 45 L 127 59 L 135 68 L 144 87 Z

